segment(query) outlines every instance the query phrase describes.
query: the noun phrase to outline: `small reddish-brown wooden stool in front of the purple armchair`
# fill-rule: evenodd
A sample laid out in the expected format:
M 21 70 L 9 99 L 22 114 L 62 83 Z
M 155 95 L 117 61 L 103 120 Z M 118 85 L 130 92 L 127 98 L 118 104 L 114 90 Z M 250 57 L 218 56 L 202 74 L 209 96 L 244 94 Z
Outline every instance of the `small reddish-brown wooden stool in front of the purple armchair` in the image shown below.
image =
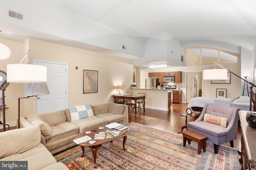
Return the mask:
M 203 148 L 203 151 L 206 151 L 206 139 L 208 137 L 204 136 L 204 135 L 200 135 L 196 132 L 193 131 L 184 131 L 182 132 L 183 135 L 183 147 L 186 146 L 186 142 L 188 140 L 188 145 L 190 145 L 191 141 L 195 141 L 196 143 L 198 143 L 198 154 L 201 153 L 201 149 Z

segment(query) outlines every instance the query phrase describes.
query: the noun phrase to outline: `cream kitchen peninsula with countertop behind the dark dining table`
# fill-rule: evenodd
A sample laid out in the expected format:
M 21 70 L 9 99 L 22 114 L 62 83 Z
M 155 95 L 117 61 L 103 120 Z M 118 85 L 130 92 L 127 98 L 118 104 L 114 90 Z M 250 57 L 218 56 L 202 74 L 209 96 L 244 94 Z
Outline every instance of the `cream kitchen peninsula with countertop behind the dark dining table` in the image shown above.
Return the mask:
M 131 88 L 133 94 L 146 93 L 145 107 L 168 111 L 171 107 L 171 92 L 168 89 Z

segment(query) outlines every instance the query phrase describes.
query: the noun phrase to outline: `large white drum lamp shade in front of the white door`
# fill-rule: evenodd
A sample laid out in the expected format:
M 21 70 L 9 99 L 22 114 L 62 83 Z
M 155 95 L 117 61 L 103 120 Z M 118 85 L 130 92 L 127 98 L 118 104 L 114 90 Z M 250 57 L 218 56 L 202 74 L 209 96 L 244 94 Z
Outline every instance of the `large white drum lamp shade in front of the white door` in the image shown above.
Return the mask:
M 46 82 L 46 66 L 34 64 L 8 64 L 7 82 Z

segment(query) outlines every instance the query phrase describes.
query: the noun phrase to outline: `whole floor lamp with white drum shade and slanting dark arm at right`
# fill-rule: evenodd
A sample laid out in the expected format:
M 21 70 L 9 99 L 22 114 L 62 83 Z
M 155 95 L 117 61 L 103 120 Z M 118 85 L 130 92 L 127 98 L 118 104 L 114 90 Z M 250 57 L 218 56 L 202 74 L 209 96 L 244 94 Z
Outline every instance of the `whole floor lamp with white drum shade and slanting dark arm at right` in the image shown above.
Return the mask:
M 236 75 L 234 72 L 226 69 L 225 67 L 221 66 L 220 64 L 216 63 L 215 61 L 213 62 L 214 64 L 217 64 L 218 66 L 220 66 L 221 68 L 224 69 L 209 69 L 209 70 L 204 70 L 204 75 L 203 75 L 203 79 L 204 80 L 226 80 L 227 79 L 227 75 L 228 75 L 228 71 L 231 72 L 232 74 L 234 74 L 235 76 L 241 78 L 242 80 L 244 80 L 245 82 L 249 83 L 250 85 L 252 85 L 250 87 L 250 111 L 252 111 L 252 88 L 256 87 L 255 84 L 248 82 L 247 79 L 245 80 L 244 78 Z

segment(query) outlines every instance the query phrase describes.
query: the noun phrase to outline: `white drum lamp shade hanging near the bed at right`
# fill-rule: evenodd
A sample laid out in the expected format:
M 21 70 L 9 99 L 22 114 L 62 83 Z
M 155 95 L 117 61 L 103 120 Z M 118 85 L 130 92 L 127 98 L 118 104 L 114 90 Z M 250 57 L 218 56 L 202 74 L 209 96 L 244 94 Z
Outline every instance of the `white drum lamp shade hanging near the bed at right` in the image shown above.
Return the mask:
M 204 80 L 228 80 L 228 70 L 227 69 L 210 69 L 204 70 L 203 73 Z

